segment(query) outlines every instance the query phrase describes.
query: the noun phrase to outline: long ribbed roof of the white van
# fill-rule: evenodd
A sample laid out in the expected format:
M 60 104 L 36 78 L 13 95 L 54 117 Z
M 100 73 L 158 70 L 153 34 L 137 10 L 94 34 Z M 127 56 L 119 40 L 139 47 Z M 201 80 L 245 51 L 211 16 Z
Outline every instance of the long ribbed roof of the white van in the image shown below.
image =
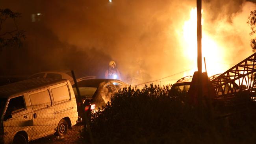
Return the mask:
M 50 85 L 67 82 L 67 79 L 53 78 L 32 78 L 8 85 L 0 86 L 0 98 L 9 98 L 16 94 L 30 92 L 32 90 L 42 89 Z

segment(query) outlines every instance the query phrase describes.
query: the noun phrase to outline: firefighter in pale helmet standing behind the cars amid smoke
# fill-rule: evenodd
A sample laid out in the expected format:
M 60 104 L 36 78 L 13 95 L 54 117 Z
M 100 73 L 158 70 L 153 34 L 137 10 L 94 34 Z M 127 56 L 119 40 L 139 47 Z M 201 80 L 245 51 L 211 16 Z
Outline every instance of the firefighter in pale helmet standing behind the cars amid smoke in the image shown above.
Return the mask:
M 119 70 L 116 68 L 115 61 L 109 62 L 109 68 L 105 72 L 105 78 L 121 80 L 121 76 L 120 76 Z

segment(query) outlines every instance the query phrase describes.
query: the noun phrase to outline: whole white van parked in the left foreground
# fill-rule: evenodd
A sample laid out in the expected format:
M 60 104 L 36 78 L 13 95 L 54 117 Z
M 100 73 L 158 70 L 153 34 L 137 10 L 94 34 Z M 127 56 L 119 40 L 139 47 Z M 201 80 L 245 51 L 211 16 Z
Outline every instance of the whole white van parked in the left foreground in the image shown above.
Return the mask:
M 72 86 L 67 79 L 45 78 L 1 86 L 0 118 L 0 143 L 62 136 L 78 120 Z

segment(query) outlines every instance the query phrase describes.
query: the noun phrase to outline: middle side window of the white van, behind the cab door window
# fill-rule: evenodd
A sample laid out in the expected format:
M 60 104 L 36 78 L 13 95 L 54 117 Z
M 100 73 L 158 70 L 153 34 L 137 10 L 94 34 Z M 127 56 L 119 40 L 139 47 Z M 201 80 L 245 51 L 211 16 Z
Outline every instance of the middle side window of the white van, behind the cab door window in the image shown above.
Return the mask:
M 52 105 L 48 90 L 30 94 L 29 98 L 33 110 L 42 109 Z

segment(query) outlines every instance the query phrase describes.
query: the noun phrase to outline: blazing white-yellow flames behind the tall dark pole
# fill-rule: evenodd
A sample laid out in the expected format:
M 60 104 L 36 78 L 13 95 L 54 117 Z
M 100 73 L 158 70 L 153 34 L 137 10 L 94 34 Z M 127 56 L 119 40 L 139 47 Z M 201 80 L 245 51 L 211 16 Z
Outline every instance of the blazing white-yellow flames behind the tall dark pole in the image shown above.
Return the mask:
M 206 68 L 208 76 L 223 73 L 226 69 L 219 65 L 218 61 L 223 62 L 223 48 L 211 38 L 211 35 L 204 31 L 204 18 L 202 11 L 202 58 L 206 58 Z M 197 71 L 197 8 L 190 11 L 189 20 L 184 22 L 183 26 L 183 48 L 187 61 L 190 63 L 191 74 Z M 223 62 L 224 63 L 224 62 Z M 202 59 L 202 72 L 205 71 L 204 61 Z

